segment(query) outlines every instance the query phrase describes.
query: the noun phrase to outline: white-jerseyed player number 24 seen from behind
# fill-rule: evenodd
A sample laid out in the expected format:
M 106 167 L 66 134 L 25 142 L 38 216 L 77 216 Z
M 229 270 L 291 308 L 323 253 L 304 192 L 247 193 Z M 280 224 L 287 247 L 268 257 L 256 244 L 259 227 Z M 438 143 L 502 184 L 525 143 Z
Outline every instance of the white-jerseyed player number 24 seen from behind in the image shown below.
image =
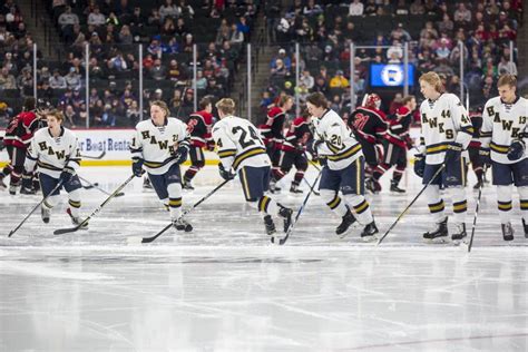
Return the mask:
M 246 202 L 262 213 L 268 235 L 276 236 L 272 215 L 284 219 L 284 232 L 287 232 L 293 211 L 265 195 L 270 187 L 272 163 L 257 128 L 248 120 L 234 116 L 233 99 L 218 100 L 216 108 L 221 120 L 213 127 L 213 139 L 218 147 L 221 176 L 233 179 L 235 173 L 238 174 Z

